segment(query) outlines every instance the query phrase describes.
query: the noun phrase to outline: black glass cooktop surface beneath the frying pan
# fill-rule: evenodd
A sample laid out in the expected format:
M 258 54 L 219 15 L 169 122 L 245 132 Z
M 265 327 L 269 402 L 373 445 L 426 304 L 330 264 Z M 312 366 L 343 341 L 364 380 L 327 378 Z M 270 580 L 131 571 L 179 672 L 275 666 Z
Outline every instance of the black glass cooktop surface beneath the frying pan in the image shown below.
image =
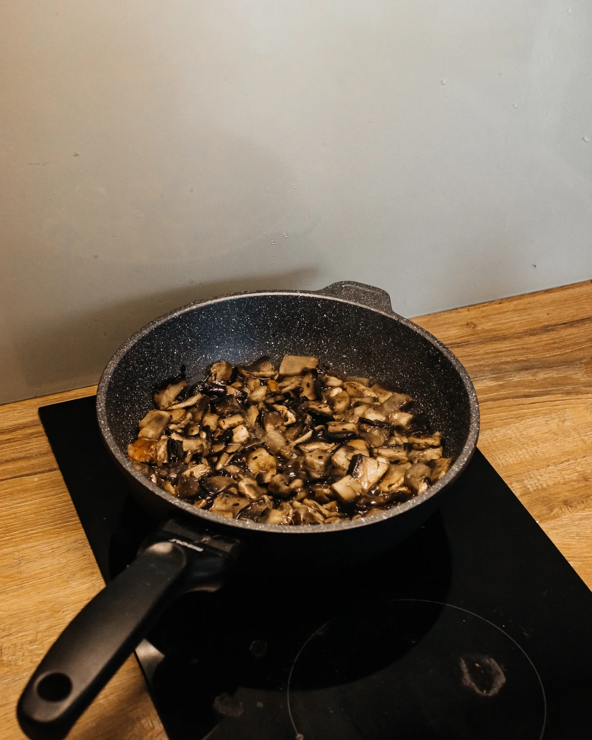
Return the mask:
M 41 422 L 104 579 L 155 523 L 94 397 Z M 592 594 L 479 451 L 406 542 L 341 568 L 246 551 L 136 650 L 170 740 L 589 739 Z

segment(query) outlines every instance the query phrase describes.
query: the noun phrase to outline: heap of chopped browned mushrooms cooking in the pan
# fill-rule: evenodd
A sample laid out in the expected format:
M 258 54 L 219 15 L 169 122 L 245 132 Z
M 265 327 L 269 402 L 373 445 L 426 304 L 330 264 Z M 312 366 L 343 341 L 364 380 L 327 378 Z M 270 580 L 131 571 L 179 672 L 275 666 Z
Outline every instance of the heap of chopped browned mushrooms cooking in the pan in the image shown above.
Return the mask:
M 185 380 L 169 383 L 138 423 L 129 460 L 196 508 L 283 526 L 372 516 L 448 471 L 439 432 L 405 431 L 411 396 L 318 364 L 220 360 L 188 398 Z

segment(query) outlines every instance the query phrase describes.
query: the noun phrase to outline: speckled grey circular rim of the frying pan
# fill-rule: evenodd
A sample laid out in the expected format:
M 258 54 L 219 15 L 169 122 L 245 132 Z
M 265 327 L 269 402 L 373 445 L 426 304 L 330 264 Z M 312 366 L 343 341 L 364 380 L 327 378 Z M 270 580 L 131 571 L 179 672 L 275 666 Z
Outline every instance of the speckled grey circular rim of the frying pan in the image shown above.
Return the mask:
M 127 456 L 122 453 L 118 443 L 115 441 L 115 437 L 113 437 L 109 423 L 107 421 L 107 391 L 113 371 L 115 371 L 118 363 L 127 354 L 129 349 L 132 348 L 132 346 L 134 346 L 136 343 L 138 343 L 139 340 L 149 334 L 149 332 L 151 332 L 152 329 L 155 329 L 156 326 L 160 326 L 166 321 L 174 317 L 181 316 L 182 314 L 192 311 L 195 308 L 215 305 L 216 303 L 223 303 L 228 300 L 236 300 L 238 298 L 269 297 L 281 295 L 313 297 L 316 299 L 329 300 L 331 303 L 349 303 L 352 306 L 366 309 L 368 311 L 383 315 L 389 319 L 402 323 L 404 326 L 407 326 L 408 329 L 411 329 L 411 331 L 420 334 L 420 336 L 422 336 L 425 340 L 428 340 L 429 343 L 431 343 L 437 350 L 440 351 L 441 354 L 446 357 L 446 359 L 458 372 L 468 396 L 468 404 L 470 409 L 468 433 L 465 438 L 465 443 L 462 445 L 462 450 L 460 451 L 460 454 L 458 454 L 456 460 L 454 460 L 448 472 L 442 478 L 440 478 L 440 480 L 435 482 L 434 485 L 431 485 L 423 494 L 420 494 L 417 497 L 413 497 L 408 501 L 392 508 L 385 509 L 383 512 L 380 512 L 380 514 L 374 514 L 372 517 L 363 517 L 362 519 L 356 519 L 354 521 L 348 519 L 344 522 L 337 522 L 335 524 L 323 525 L 320 527 L 282 527 L 280 525 L 252 522 L 250 519 L 229 519 L 229 517 L 221 517 L 220 514 L 212 514 L 206 509 L 197 509 L 189 502 L 186 502 L 183 499 L 178 499 L 171 494 L 166 493 L 166 491 L 164 491 L 162 488 L 159 488 L 158 485 L 155 485 L 155 483 L 147 480 L 144 476 L 141 475 L 140 472 L 138 472 L 133 467 Z M 229 293 L 217 297 L 197 300 L 193 303 L 187 303 L 185 306 L 181 306 L 178 309 L 173 309 L 172 311 L 169 311 L 166 314 L 155 318 L 154 320 L 143 326 L 141 329 L 138 329 L 138 331 L 132 334 L 130 337 L 128 337 L 127 340 L 125 340 L 125 342 L 121 345 L 121 347 L 115 352 L 115 354 L 113 354 L 110 361 L 107 363 L 107 366 L 105 367 L 103 373 L 101 374 L 101 380 L 99 380 L 98 382 L 96 404 L 98 425 L 101 430 L 103 439 L 107 444 L 107 448 L 109 449 L 111 454 L 118 461 L 119 465 L 124 468 L 127 474 L 134 478 L 140 485 L 143 485 L 144 488 L 148 488 L 149 491 L 151 491 L 153 494 L 163 499 L 168 505 L 173 505 L 181 512 L 184 512 L 184 514 L 189 514 L 189 516 L 196 517 L 198 521 L 203 522 L 204 525 L 207 525 L 208 522 L 211 522 L 212 525 L 215 526 L 218 525 L 223 527 L 230 527 L 236 529 L 237 534 L 241 530 L 243 530 L 266 532 L 267 534 L 275 534 L 277 536 L 292 536 L 296 534 L 317 536 L 323 533 L 329 534 L 330 532 L 351 531 L 360 527 L 367 527 L 369 525 L 383 522 L 386 519 L 391 519 L 391 517 L 397 517 L 400 514 L 404 514 L 406 511 L 409 511 L 410 509 L 421 505 L 428 499 L 433 498 L 440 491 L 442 491 L 443 488 L 447 488 L 455 480 L 457 480 L 462 471 L 464 471 L 464 469 L 470 462 L 471 457 L 473 457 L 474 451 L 477 448 L 477 440 L 479 437 L 480 429 L 479 402 L 477 400 L 477 392 L 475 391 L 474 385 L 471 381 L 471 377 L 469 377 L 468 372 L 466 371 L 460 360 L 456 357 L 456 355 L 450 349 L 448 349 L 448 347 L 445 346 L 444 343 L 437 339 L 437 337 L 434 337 L 433 334 L 430 334 L 430 332 L 423 329 L 422 326 L 419 326 L 411 320 L 400 316 L 400 314 L 397 314 L 394 311 L 378 309 L 373 306 L 367 306 L 366 304 L 360 303 L 356 300 L 327 295 L 322 291 L 317 292 L 312 290 L 269 289 Z

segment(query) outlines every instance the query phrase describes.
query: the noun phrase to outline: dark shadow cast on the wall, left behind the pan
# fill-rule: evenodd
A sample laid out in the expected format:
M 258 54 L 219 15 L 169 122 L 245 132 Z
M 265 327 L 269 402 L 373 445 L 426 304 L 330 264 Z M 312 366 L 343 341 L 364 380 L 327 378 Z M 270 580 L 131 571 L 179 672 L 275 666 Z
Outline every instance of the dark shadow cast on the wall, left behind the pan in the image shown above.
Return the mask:
M 152 319 L 187 303 L 226 293 L 295 289 L 310 280 L 314 272 L 300 269 L 185 286 L 78 314 L 58 326 L 40 324 L 37 330 L 27 332 L 26 341 L 16 345 L 24 376 L 31 388 L 39 388 L 38 395 L 98 383 L 115 350 Z

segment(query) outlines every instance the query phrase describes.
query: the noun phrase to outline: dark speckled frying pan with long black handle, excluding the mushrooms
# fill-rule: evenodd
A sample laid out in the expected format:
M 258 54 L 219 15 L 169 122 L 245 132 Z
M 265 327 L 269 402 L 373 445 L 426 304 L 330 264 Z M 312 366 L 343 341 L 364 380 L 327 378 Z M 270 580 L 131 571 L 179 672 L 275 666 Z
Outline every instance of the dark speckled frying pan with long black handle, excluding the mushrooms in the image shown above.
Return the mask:
M 189 383 L 224 359 L 313 355 L 335 371 L 400 386 L 443 434 L 454 459 L 425 493 L 380 514 L 331 525 L 285 527 L 195 508 L 147 480 L 127 459 L 154 388 L 185 366 Z M 63 738 L 172 599 L 219 588 L 243 547 L 318 568 L 392 548 L 437 508 L 477 445 L 479 408 L 467 372 L 440 341 L 391 309 L 388 293 L 362 283 L 320 291 L 266 291 L 202 300 L 152 321 L 110 360 L 97 393 L 107 448 L 138 502 L 163 522 L 138 558 L 81 610 L 41 661 L 17 715 L 33 740 Z M 75 454 L 75 451 L 73 451 Z

